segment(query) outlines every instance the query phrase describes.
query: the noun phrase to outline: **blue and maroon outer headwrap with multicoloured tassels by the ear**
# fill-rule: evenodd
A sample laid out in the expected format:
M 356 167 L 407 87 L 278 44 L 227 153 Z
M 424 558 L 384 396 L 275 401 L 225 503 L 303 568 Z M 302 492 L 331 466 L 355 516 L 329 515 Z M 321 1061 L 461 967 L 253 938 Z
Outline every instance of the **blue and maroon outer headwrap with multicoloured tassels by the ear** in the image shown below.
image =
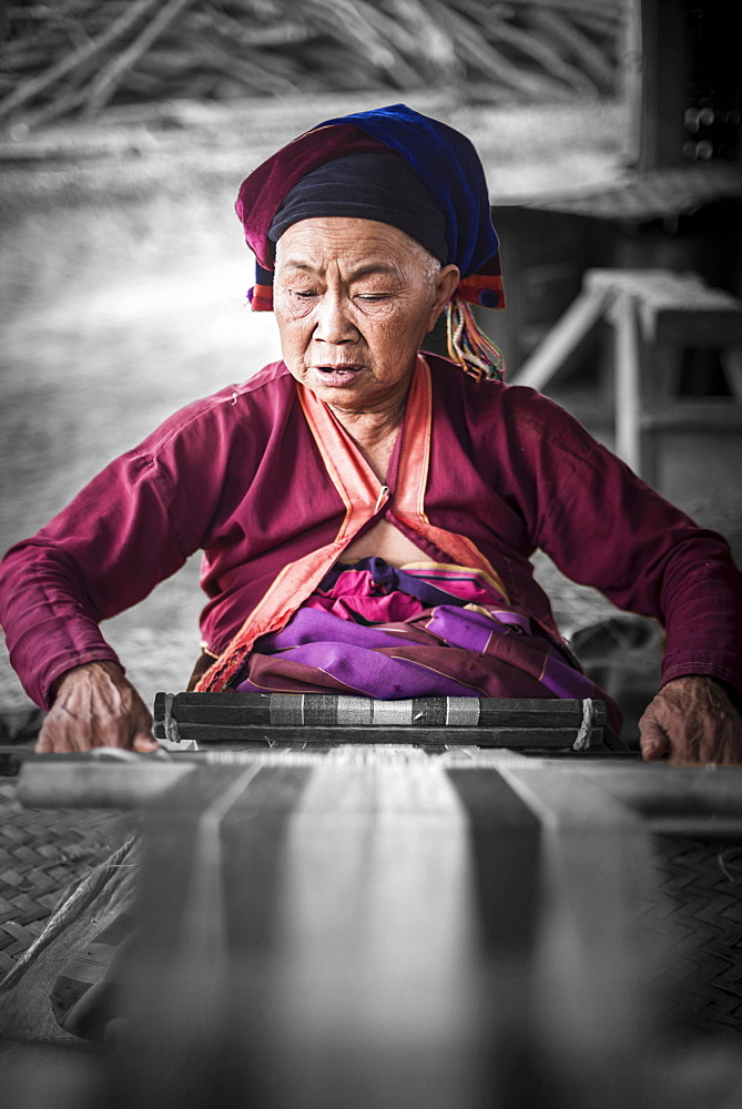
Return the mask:
M 248 293 L 252 307 L 273 308 L 270 230 L 294 186 L 325 163 L 353 154 L 390 152 L 407 162 L 443 214 L 446 263 L 458 266 L 461 274 L 447 306 L 449 354 L 477 378 L 501 379 L 502 357 L 464 303 L 505 307 L 499 241 L 481 162 L 465 135 L 406 104 L 327 120 L 283 146 L 243 181 L 235 210 L 257 260 L 256 284 Z

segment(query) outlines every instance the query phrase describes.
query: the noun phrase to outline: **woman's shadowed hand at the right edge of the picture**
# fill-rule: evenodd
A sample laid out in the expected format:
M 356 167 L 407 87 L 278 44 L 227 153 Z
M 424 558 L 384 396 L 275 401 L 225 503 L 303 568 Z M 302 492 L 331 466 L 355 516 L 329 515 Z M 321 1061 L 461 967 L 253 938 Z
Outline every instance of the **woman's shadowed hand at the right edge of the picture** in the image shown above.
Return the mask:
M 713 678 L 668 682 L 639 721 L 639 733 L 648 762 L 742 764 L 742 715 Z

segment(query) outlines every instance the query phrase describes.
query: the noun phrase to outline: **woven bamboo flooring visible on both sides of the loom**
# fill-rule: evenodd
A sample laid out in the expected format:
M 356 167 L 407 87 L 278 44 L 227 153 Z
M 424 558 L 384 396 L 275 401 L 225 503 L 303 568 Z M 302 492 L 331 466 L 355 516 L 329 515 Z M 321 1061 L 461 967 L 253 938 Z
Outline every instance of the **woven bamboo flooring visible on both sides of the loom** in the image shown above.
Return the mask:
M 132 815 L 102 808 L 27 808 L 16 780 L 0 779 L 0 977 L 42 932 L 55 906 L 128 834 Z M 742 842 L 659 836 L 661 903 L 682 939 L 668 955 L 680 970 L 678 1019 L 705 1032 L 742 1032 Z M 658 891 L 659 893 L 659 891 Z

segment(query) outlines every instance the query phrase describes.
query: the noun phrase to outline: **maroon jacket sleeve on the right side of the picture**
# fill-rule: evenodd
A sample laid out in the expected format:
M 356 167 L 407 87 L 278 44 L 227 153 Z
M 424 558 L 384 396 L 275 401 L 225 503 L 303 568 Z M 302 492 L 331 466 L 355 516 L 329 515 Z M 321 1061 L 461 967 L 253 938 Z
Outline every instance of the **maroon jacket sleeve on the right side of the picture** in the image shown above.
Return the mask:
M 527 407 L 520 434 L 536 546 L 573 581 L 663 624 L 663 682 L 709 674 L 742 692 L 742 573 L 726 540 L 650 489 L 561 408 L 536 396 Z

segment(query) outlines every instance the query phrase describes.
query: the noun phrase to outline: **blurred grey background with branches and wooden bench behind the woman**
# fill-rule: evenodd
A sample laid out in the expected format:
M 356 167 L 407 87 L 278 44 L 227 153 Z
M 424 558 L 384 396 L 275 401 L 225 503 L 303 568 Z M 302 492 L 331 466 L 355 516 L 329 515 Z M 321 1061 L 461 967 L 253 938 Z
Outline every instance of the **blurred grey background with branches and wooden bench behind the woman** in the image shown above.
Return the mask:
M 0 7 L 0 548 L 163 418 L 278 356 L 233 204 L 323 119 L 404 101 L 485 164 L 509 379 L 591 267 L 742 293 L 740 13 L 719 0 L 28 0 Z M 437 342 L 434 337 L 433 343 Z M 543 386 L 613 445 L 610 324 Z M 684 345 L 677 390 L 740 401 Z M 742 553 L 740 433 L 660 444 L 657 484 Z M 538 576 L 566 632 L 610 606 Z M 151 704 L 199 654 L 199 559 L 105 628 Z M 7 655 L 0 711 L 28 712 Z M 8 715 L 10 714 L 10 716 Z

